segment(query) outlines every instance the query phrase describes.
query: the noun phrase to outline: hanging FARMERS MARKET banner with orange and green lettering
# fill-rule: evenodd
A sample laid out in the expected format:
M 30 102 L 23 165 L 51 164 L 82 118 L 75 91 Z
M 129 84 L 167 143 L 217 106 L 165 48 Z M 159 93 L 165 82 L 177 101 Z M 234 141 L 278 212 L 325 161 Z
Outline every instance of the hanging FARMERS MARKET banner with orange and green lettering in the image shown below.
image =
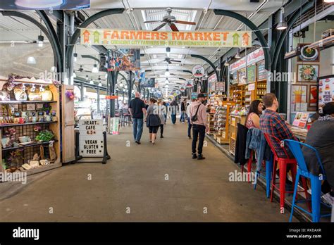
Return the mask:
M 120 46 L 252 46 L 252 32 L 151 32 L 135 30 L 81 29 L 81 44 Z

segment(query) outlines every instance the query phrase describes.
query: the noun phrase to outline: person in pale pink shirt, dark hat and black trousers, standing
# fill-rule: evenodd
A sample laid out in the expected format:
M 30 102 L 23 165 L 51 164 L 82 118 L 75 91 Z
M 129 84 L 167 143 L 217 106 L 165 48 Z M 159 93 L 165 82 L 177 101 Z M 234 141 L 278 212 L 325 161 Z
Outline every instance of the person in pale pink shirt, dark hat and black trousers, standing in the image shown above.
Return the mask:
M 190 107 L 190 122 L 192 123 L 192 159 L 197 158 L 198 160 L 205 159 L 202 155 L 203 143 L 205 132 L 209 129 L 208 127 L 208 114 L 206 113 L 206 108 L 204 106 L 204 101 L 206 100 L 204 94 L 197 95 L 197 101 L 194 101 Z M 196 145 L 197 138 L 199 138 L 198 148 L 196 155 Z

